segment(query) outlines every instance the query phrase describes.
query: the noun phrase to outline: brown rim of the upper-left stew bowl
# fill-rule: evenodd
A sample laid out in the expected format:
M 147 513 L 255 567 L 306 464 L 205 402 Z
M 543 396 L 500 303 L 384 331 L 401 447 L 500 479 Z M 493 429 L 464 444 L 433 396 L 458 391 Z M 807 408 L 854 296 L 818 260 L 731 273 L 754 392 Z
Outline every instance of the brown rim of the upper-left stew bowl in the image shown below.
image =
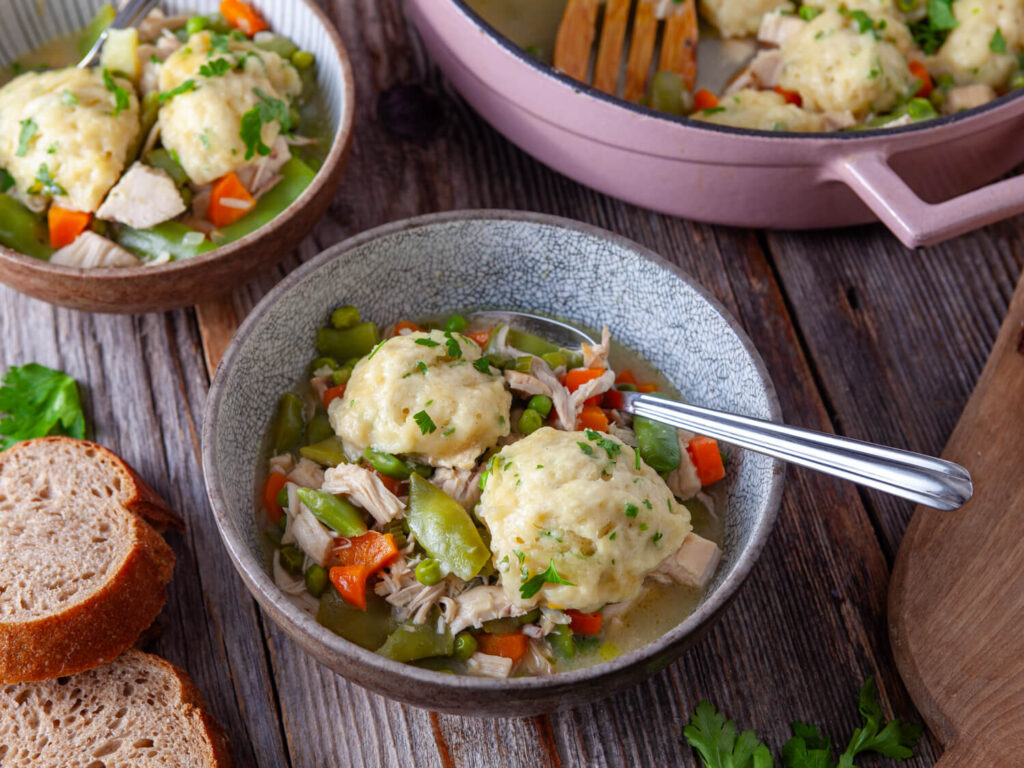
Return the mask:
M 309 186 L 303 189 L 302 194 L 292 201 L 288 208 L 263 226 L 240 238 L 233 243 L 228 243 L 209 253 L 198 254 L 187 259 L 170 261 L 166 264 L 142 264 L 138 266 L 104 267 L 101 269 L 65 266 L 33 258 L 20 251 L 0 245 L 0 267 L 4 265 L 4 262 L 8 262 L 12 266 L 16 265 L 17 267 L 28 268 L 47 275 L 59 276 L 61 279 L 88 280 L 90 282 L 95 281 L 96 283 L 125 283 L 134 282 L 133 279 L 144 280 L 153 276 L 170 278 L 180 272 L 199 269 L 213 261 L 234 256 L 251 248 L 263 238 L 270 237 L 280 230 L 296 211 L 309 205 L 313 198 L 323 190 L 324 185 L 340 169 L 348 154 L 355 123 L 355 79 L 352 75 L 352 65 L 348 56 L 348 51 L 331 19 L 314 0 L 298 0 L 298 2 L 302 3 L 313 13 L 327 34 L 328 39 L 331 41 L 335 56 L 341 66 L 344 97 L 342 98 L 341 115 L 338 120 L 338 130 L 331 141 L 331 151 L 328 153 L 327 158 L 325 158 L 324 164 L 316 170 Z

